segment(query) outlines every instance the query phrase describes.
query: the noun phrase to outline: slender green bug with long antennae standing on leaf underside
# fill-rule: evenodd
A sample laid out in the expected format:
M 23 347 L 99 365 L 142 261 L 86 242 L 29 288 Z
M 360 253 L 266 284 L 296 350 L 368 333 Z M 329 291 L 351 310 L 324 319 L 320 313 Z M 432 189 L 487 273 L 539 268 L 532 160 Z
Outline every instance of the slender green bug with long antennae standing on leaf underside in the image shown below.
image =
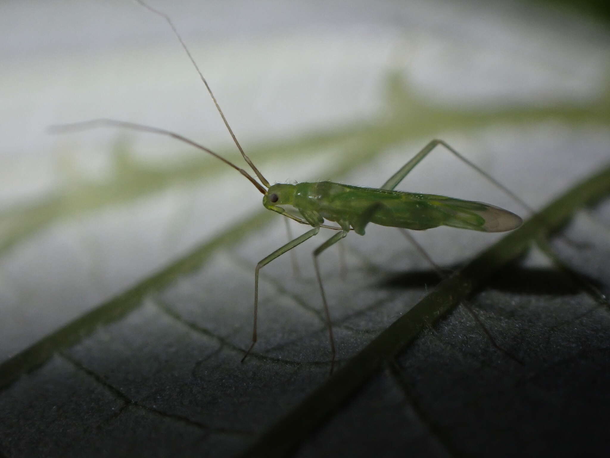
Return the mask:
M 337 231 L 336 234 L 331 236 L 331 238 L 326 240 L 313 252 L 315 274 L 318 285 L 320 286 L 321 299 L 326 318 L 326 327 L 328 329 L 331 349 L 330 371 L 332 373 L 336 351 L 334 338 L 332 336 L 331 317 L 320 275 L 320 267 L 318 266 L 318 256 L 322 252 L 343 239 L 348 233 L 350 233 L 350 231 L 354 231 L 359 235 L 364 235 L 365 228 L 369 223 L 411 230 L 425 230 L 444 225 L 483 232 L 510 231 L 522 224 L 522 219 L 516 214 L 488 203 L 461 200 L 443 195 L 395 191 L 395 187 L 398 186 L 398 184 L 407 176 L 409 172 L 411 172 L 412 169 L 414 169 L 414 167 L 420 161 L 422 161 L 423 158 L 431 153 L 434 148 L 442 145 L 462 162 L 481 173 L 481 175 L 483 175 L 492 184 L 514 198 L 514 200 L 517 202 L 522 203 L 522 205 L 527 208 L 525 203 L 523 203 L 522 200 L 509 191 L 509 189 L 502 186 L 489 174 L 479 169 L 479 167 L 468 161 L 468 159 L 464 158 L 464 156 L 459 154 L 458 151 L 454 150 L 454 148 L 442 140 L 431 140 L 425 147 L 423 147 L 421 151 L 419 151 L 419 153 L 415 154 L 412 159 L 404 164 L 403 167 L 401 167 L 396 173 L 390 176 L 390 178 L 379 188 L 349 186 L 347 184 L 333 183 L 332 181 L 319 181 L 317 183 L 270 184 L 262 173 L 260 173 L 260 171 L 256 168 L 253 162 L 248 158 L 246 153 L 243 151 L 243 148 L 237 141 L 235 134 L 224 117 L 223 111 L 221 110 L 216 97 L 213 95 L 212 89 L 210 89 L 206 78 L 204 78 L 203 73 L 201 73 L 201 70 L 199 70 L 195 59 L 193 59 L 192 54 L 185 45 L 184 40 L 182 40 L 182 37 L 178 33 L 176 26 L 174 26 L 173 21 L 171 21 L 168 15 L 154 9 L 142 0 L 136 1 L 151 12 L 162 16 L 170 25 L 174 34 L 176 37 L 178 37 L 182 48 L 184 48 L 184 51 L 187 53 L 188 59 L 190 59 L 198 72 L 199 78 L 201 78 L 201 81 L 203 81 L 203 84 L 206 86 L 207 92 L 211 96 L 218 113 L 223 119 L 224 125 L 226 125 L 226 128 L 235 142 L 235 145 L 237 145 L 240 153 L 242 153 L 243 159 L 254 171 L 258 181 L 256 178 L 246 172 L 246 170 L 243 170 L 232 162 L 229 162 L 227 159 L 223 158 L 217 153 L 214 153 L 209 148 L 165 129 L 159 129 L 131 122 L 99 118 L 85 122 L 51 126 L 51 130 L 54 132 L 59 132 L 106 125 L 173 137 L 192 145 L 195 148 L 199 148 L 199 150 L 203 150 L 206 153 L 211 154 L 245 176 L 254 185 L 254 187 L 256 187 L 256 189 L 263 194 L 263 205 L 265 208 L 293 219 L 296 222 L 312 227 L 306 233 L 301 234 L 297 238 L 289 241 L 287 244 L 279 247 L 270 255 L 265 256 L 265 258 L 260 260 L 257 264 L 256 269 L 254 270 L 254 322 L 252 341 L 243 355 L 242 362 L 252 351 L 257 341 L 258 285 L 260 269 L 284 253 L 289 252 L 297 245 L 300 245 L 307 239 L 317 235 L 322 227 Z M 283 205 L 290 205 L 293 208 L 296 208 L 300 213 L 300 217 L 288 213 L 287 210 L 282 207 Z M 338 226 L 326 225 L 324 224 L 325 220 L 335 222 Z

